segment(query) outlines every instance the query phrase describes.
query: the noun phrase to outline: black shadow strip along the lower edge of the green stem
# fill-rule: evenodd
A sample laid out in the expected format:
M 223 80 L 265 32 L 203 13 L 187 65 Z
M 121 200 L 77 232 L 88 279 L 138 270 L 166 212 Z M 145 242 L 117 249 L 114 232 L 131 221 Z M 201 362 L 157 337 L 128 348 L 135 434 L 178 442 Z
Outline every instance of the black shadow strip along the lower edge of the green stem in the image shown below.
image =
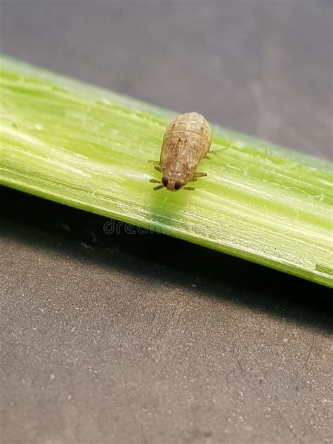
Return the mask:
M 0 188 L 1 236 L 332 332 L 328 288 L 150 230 Z M 112 257 L 112 261 L 110 261 Z M 130 271 L 129 271 L 130 270 Z

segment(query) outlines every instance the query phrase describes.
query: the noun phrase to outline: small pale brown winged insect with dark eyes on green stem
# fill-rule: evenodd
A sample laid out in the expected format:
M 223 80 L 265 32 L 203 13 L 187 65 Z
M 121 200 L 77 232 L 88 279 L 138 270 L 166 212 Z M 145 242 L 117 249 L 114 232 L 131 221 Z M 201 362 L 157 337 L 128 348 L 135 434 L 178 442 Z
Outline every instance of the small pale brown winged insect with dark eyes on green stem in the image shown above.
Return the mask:
M 211 128 L 207 120 L 197 112 L 186 112 L 167 126 L 159 162 L 155 169 L 162 173 L 162 180 L 150 179 L 159 183 L 154 190 L 166 187 L 170 191 L 195 190 L 185 186 L 207 173 L 197 172 L 197 166 L 207 156 L 211 146 Z

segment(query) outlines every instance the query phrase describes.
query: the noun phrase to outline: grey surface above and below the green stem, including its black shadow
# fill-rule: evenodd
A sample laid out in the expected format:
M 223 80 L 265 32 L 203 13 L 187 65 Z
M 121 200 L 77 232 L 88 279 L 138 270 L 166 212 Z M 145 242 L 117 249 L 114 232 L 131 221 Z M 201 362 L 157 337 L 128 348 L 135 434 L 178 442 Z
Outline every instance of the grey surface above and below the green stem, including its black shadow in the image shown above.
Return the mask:
M 0 23 L 8 55 L 331 155 L 330 1 L 2 1 Z M 1 444 L 332 442 L 327 289 L 0 200 Z

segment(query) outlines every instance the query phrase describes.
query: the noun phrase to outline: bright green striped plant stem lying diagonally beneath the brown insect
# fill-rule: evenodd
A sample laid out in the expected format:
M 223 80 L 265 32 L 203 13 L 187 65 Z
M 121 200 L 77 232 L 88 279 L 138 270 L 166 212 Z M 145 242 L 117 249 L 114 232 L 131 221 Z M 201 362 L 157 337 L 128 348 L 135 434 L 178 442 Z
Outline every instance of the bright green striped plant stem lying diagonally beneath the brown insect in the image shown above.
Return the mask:
M 0 63 L 2 185 L 333 285 L 332 164 L 214 126 L 196 190 L 154 192 L 174 113 Z

